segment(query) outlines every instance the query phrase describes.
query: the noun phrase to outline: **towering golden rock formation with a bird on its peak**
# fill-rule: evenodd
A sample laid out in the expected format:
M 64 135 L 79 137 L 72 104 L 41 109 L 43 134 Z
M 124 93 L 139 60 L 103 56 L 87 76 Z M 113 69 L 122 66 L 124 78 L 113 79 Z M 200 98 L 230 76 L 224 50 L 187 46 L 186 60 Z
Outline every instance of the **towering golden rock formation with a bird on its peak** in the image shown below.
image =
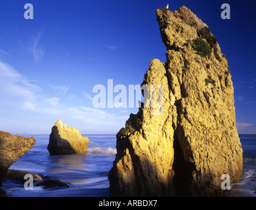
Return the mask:
M 188 8 L 156 15 L 167 62 L 151 60 L 142 85 L 163 85 L 163 97 L 158 89 L 150 94 L 163 106 L 152 114 L 156 108 L 144 98 L 144 108 L 117 133 L 110 190 L 114 196 L 219 196 L 221 175 L 235 182 L 243 167 L 226 56 Z M 196 39 L 207 43 L 209 55 L 195 50 Z

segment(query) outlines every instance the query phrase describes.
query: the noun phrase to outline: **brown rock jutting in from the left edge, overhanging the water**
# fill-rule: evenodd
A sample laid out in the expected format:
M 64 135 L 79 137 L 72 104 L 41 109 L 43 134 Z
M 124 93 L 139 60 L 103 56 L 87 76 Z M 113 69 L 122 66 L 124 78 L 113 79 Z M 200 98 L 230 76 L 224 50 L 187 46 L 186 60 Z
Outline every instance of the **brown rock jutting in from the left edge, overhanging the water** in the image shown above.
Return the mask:
M 20 137 L 0 131 L 0 186 L 12 163 L 28 152 L 33 144 L 33 137 Z

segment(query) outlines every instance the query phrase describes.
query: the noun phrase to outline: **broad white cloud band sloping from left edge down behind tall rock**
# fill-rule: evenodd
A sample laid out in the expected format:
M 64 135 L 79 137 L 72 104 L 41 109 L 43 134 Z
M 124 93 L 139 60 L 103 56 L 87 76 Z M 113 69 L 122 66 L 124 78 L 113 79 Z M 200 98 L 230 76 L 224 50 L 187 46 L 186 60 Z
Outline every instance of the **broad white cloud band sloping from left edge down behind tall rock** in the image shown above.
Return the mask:
M 129 117 L 128 112 L 117 115 L 113 109 L 100 110 L 89 106 L 64 104 L 62 95 L 66 94 L 68 87 L 52 86 L 60 96 L 54 96 L 51 93 L 45 95 L 46 93 L 40 87 L 34 85 L 32 81 L 18 73 L 9 64 L 0 61 L 0 116 L 1 114 L 12 115 L 16 125 L 20 121 L 18 119 L 15 121 L 15 114 L 20 113 L 28 114 L 28 119 L 32 116 L 36 119 L 46 117 L 53 121 L 58 118 L 66 119 L 69 125 L 73 124 L 81 127 L 81 131 L 87 133 L 97 133 L 98 131 L 116 133 L 118 129 L 125 125 L 125 121 Z M 84 94 L 87 98 L 92 99 L 89 93 L 84 91 Z M 65 97 L 68 98 L 68 96 Z M 8 113 L 4 110 L 7 110 Z M 38 121 L 34 120 L 32 119 L 28 123 L 30 128 L 24 130 L 24 132 L 28 132 L 32 127 L 35 127 L 35 123 L 38 124 Z

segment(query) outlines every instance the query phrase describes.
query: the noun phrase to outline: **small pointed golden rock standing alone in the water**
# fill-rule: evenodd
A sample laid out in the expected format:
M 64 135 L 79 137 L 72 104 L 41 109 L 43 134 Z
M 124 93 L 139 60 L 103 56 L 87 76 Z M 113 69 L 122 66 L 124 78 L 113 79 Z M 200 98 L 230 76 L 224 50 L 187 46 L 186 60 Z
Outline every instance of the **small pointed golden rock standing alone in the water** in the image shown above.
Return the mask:
M 89 141 L 77 129 L 68 127 L 58 119 L 52 128 L 47 149 L 51 155 L 83 153 Z

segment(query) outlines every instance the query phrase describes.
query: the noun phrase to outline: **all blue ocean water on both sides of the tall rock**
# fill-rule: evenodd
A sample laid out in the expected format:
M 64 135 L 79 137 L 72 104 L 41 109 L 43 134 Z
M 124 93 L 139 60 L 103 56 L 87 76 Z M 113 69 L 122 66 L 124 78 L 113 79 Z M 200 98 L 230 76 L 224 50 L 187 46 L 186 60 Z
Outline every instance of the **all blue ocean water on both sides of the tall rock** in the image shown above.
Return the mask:
M 23 135 L 31 137 L 32 135 Z M 86 135 L 90 138 L 87 152 L 50 156 L 47 150 L 49 135 L 33 135 L 36 144 L 10 169 L 31 171 L 57 178 L 70 188 L 33 186 L 25 190 L 20 182 L 4 179 L 0 196 L 8 197 L 108 197 L 108 172 L 116 154 L 116 135 Z M 256 135 L 240 135 L 244 150 L 244 169 L 241 179 L 231 184 L 223 196 L 256 197 Z

